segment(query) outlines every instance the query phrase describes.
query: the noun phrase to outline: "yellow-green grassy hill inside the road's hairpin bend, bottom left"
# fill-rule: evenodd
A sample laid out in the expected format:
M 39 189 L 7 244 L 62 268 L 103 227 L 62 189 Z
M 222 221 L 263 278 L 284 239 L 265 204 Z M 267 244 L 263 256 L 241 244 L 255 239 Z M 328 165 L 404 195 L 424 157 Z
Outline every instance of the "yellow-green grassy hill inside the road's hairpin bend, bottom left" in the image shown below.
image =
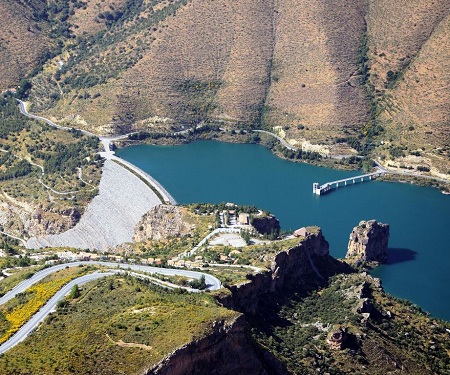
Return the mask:
M 236 312 L 207 294 L 172 292 L 129 276 L 86 284 L 76 300 L 0 357 L 6 374 L 141 374 Z M 45 350 L 43 350 L 45 348 Z

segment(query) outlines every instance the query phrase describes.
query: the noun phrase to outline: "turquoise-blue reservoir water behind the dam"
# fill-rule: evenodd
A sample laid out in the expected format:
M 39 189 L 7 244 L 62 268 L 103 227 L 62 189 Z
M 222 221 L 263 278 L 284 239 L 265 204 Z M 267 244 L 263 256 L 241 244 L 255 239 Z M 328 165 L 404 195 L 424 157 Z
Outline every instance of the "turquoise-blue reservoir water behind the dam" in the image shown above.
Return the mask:
M 450 320 L 450 196 L 436 189 L 371 181 L 319 197 L 313 182 L 358 172 L 292 163 L 258 145 L 201 141 L 117 154 L 155 177 L 179 203 L 253 204 L 274 213 L 284 229 L 318 225 L 335 257 L 345 255 L 359 221 L 388 223 L 389 262 L 374 275 L 389 293 Z

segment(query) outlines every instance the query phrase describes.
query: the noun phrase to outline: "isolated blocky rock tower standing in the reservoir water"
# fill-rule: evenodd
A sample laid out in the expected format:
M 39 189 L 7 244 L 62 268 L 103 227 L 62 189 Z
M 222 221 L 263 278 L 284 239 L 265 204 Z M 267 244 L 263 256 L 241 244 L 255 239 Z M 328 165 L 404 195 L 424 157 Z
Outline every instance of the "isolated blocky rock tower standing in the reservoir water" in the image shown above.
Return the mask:
M 389 224 L 361 221 L 350 233 L 346 259 L 352 263 L 385 263 L 388 255 Z

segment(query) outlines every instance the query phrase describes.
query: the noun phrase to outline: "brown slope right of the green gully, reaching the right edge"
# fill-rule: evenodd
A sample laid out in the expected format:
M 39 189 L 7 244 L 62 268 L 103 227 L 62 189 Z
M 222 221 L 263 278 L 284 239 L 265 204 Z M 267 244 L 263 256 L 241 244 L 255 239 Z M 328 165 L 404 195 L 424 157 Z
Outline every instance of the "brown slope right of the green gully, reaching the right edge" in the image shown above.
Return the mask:
M 446 171 L 450 145 L 448 1 L 371 1 L 368 33 L 370 81 L 377 91 L 386 139 L 413 150 L 423 147 L 431 163 Z M 436 154 L 440 148 L 444 152 Z

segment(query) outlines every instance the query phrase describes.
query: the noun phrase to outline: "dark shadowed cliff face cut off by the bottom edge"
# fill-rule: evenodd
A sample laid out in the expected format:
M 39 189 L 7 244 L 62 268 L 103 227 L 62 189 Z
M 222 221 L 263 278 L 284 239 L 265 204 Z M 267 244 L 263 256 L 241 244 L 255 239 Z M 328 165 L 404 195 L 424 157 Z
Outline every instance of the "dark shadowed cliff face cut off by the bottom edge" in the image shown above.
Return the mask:
M 243 316 L 215 322 L 213 331 L 177 349 L 145 375 L 266 375 L 287 374 L 285 367 L 263 352 L 245 334 Z

